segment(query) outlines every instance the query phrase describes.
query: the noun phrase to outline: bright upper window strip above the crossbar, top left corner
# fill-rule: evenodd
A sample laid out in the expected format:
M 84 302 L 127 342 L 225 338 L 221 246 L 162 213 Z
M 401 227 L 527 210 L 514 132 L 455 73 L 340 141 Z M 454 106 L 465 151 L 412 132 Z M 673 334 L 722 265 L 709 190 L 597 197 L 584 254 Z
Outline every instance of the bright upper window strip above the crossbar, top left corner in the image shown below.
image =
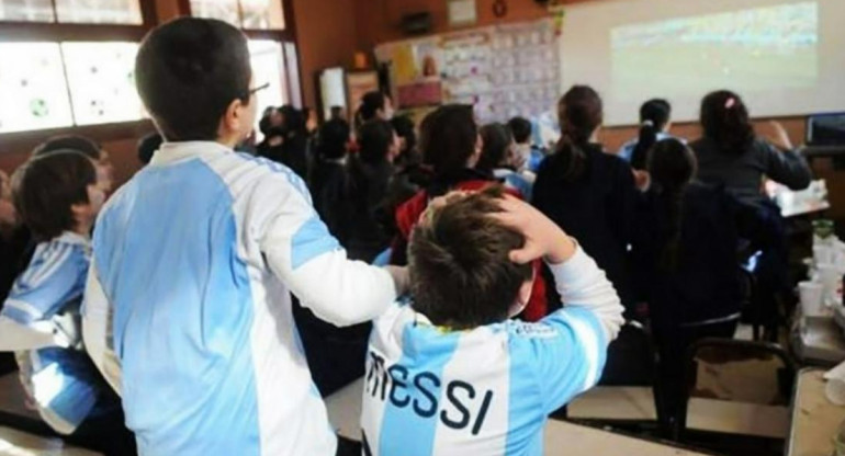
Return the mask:
M 138 0 L 0 0 L 0 21 L 144 23 Z

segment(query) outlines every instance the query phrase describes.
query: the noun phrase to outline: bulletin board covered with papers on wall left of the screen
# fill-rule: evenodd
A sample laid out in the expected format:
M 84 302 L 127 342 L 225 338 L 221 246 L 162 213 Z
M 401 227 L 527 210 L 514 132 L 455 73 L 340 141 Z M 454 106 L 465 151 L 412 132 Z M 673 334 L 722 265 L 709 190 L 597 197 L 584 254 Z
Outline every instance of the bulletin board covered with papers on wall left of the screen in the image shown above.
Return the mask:
M 560 25 L 543 19 L 385 43 L 375 56 L 391 69 L 399 109 L 466 103 L 488 123 L 553 111 L 559 49 Z

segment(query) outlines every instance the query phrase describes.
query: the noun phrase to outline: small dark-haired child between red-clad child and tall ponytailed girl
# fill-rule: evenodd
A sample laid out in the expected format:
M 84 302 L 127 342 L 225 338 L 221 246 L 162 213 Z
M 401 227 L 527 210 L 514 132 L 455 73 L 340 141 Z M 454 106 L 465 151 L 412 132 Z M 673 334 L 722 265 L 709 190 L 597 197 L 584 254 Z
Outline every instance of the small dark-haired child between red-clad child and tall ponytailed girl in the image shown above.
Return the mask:
M 482 127 L 481 137 L 484 147 L 475 169 L 493 173 L 508 189 L 519 192 L 523 200 L 531 201 L 533 182 L 520 173 L 526 160 L 517 150 L 510 130 L 502 124 L 489 124 Z

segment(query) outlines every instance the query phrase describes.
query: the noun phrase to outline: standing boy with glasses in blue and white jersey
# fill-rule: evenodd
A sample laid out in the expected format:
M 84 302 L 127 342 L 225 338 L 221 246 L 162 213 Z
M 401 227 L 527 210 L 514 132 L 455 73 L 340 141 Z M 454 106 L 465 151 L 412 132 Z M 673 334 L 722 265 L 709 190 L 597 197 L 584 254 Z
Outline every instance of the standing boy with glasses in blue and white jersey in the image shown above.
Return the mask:
M 261 89 L 240 31 L 178 19 L 135 69 L 165 144 L 98 219 L 83 329 L 139 453 L 334 455 L 291 293 L 346 326 L 402 287 L 347 260 L 290 169 L 233 150 Z

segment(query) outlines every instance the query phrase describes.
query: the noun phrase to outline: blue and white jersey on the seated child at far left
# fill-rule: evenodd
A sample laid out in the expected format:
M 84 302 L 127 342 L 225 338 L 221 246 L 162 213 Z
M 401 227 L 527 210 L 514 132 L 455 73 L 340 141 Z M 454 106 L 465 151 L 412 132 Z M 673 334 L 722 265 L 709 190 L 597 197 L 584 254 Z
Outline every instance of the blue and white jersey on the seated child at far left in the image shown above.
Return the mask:
M 29 267 L 15 281 L 0 316 L 49 334 L 52 319 L 59 312 L 79 315 L 90 258 L 89 240 L 74 232 L 40 243 Z M 69 330 L 81 333 L 80 328 Z M 24 389 L 54 430 L 70 434 L 95 413 L 99 391 L 105 384 L 83 351 L 50 346 L 18 351 L 15 357 Z

